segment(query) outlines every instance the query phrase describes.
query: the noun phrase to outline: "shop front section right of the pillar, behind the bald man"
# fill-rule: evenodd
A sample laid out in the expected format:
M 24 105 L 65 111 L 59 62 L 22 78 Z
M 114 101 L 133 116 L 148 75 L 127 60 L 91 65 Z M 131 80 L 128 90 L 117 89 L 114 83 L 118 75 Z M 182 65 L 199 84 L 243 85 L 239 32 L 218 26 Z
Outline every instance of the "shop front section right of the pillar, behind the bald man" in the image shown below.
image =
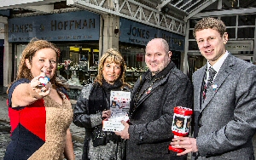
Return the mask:
M 119 51 L 125 58 L 127 82 L 133 85 L 137 78 L 148 70 L 144 62 L 145 46 L 154 37 L 166 39 L 172 51 L 172 61 L 180 69 L 185 37 L 124 18 L 119 21 Z

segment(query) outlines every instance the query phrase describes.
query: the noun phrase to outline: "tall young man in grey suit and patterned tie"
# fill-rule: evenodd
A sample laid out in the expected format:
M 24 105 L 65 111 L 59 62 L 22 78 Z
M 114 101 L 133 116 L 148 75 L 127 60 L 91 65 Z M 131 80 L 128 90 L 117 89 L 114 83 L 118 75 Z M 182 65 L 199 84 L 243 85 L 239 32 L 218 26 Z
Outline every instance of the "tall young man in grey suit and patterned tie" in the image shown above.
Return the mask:
M 254 159 L 256 66 L 225 49 L 225 31 L 223 21 L 213 18 L 195 26 L 207 65 L 193 74 L 195 138 L 173 139 L 173 147 L 185 148 L 177 155 L 192 151 L 195 159 Z

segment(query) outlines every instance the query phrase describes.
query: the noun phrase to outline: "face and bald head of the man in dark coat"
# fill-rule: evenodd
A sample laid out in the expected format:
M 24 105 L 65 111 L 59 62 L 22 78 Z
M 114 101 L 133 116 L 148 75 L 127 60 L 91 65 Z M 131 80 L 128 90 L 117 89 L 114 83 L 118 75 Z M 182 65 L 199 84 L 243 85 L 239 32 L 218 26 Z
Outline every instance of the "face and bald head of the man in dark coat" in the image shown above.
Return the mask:
M 145 62 L 152 75 L 166 68 L 171 61 L 172 52 L 168 51 L 160 38 L 151 40 L 146 47 Z

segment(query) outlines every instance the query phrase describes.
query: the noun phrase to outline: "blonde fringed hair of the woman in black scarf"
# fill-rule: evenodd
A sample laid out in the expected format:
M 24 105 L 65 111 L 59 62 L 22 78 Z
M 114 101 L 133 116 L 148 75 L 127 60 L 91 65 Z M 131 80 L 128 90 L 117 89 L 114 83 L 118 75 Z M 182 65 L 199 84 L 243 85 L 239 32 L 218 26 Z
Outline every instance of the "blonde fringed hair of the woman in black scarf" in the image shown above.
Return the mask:
M 102 79 L 103 79 L 102 70 L 104 67 L 104 63 L 112 63 L 112 62 L 120 66 L 121 73 L 120 73 L 119 79 L 123 84 L 125 83 L 125 71 L 126 71 L 125 60 L 122 54 L 119 53 L 119 50 L 114 48 L 108 49 L 104 54 L 102 54 L 102 57 L 99 61 L 98 74 L 96 76 L 95 83 L 99 83 L 100 85 L 102 85 Z

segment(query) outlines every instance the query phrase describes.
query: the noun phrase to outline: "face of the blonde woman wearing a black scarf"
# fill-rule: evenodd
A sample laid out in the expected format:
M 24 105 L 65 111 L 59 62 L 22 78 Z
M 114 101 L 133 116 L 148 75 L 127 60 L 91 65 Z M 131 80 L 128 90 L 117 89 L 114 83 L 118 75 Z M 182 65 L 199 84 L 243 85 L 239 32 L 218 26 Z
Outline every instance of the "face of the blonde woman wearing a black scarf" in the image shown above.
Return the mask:
M 119 78 L 121 74 L 121 67 L 108 59 L 105 61 L 102 68 L 103 78 L 110 84 L 113 84 L 116 79 Z

